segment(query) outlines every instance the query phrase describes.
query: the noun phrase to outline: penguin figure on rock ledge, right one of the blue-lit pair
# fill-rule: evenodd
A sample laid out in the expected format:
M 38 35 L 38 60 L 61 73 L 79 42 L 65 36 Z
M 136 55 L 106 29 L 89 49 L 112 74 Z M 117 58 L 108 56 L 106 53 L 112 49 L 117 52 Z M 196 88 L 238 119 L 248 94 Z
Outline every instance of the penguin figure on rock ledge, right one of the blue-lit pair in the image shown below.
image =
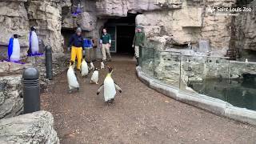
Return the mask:
M 35 33 L 35 30 L 34 26 L 30 28 L 30 48 L 28 54 L 32 55 L 39 53 L 38 35 Z

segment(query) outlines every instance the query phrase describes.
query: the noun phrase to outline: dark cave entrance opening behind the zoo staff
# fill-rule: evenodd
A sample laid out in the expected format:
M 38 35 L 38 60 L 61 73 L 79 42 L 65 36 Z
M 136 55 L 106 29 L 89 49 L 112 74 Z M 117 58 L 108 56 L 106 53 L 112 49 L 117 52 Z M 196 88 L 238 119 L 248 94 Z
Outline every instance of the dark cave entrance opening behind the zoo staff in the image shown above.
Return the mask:
M 110 18 L 105 27 L 111 35 L 110 51 L 116 54 L 134 54 L 132 43 L 134 39 L 135 17 L 137 14 L 128 14 L 124 18 Z

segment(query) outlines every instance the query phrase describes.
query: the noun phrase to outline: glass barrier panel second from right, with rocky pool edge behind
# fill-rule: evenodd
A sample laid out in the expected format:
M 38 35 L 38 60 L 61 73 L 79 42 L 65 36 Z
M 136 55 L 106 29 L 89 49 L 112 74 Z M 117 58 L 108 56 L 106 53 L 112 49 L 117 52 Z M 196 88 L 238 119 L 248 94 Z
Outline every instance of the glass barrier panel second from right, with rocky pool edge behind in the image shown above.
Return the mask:
M 226 103 L 229 60 L 221 57 L 183 55 L 181 67 L 182 93 Z

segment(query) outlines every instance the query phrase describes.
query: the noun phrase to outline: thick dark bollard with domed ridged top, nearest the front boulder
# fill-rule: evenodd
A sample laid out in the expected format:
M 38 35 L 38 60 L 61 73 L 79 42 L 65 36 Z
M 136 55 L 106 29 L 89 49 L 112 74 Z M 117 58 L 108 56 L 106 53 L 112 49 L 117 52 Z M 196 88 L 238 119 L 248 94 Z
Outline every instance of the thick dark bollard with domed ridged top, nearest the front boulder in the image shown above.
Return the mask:
M 39 72 L 35 68 L 28 68 L 23 72 L 23 103 L 24 114 L 40 110 Z

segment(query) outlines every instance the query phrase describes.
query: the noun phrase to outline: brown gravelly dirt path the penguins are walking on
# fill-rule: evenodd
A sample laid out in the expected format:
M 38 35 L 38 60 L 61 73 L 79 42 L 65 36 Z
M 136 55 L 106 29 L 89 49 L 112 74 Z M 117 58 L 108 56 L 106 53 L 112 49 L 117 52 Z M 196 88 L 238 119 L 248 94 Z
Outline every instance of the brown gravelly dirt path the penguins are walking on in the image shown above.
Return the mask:
M 108 64 L 114 66 L 114 81 L 122 88 L 110 106 L 102 93 L 96 94 L 98 86 L 90 84 L 90 76 L 80 74 L 80 92 L 67 94 L 65 72 L 42 94 L 42 109 L 54 114 L 61 143 L 256 142 L 255 126 L 210 114 L 148 88 L 138 80 L 132 58 L 115 57 Z M 106 71 L 100 70 L 100 84 Z

